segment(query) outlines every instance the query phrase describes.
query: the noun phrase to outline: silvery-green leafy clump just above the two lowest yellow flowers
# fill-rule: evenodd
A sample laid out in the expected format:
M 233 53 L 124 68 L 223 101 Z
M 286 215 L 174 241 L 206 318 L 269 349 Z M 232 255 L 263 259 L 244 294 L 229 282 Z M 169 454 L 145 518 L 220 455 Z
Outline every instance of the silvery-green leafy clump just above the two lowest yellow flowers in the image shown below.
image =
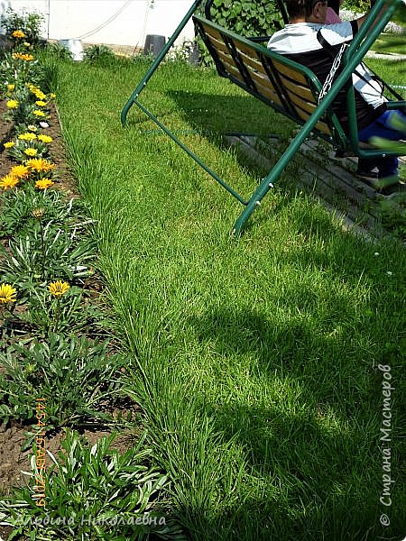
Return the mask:
M 2 234 L 14 237 L 7 248 L 0 245 L 0 271 L 3 280 L 23 289 L 46 280 L 82 279 L 95 259 L 95 243 L 88 236 L 91 221 L 80 205 L 47 192 L 38 193 L 27 183 L 25 189 L 6 194 L 3 202 Z M 35 218 L 38 210 L 43 215 Z

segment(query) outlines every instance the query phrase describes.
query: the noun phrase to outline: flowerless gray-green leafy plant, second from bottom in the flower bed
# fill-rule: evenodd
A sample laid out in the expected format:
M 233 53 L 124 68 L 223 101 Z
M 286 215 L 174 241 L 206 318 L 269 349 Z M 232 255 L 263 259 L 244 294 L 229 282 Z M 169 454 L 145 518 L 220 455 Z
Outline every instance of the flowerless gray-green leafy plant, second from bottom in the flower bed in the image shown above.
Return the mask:
M 116 372 L 124 360 L 108 350 L 107 342 L 54 333 L 29 346 L 10 345 L 0 353 L 3 420 L 32 419 L 38 397 L 45 399 L 48 427 L 110 419 L 97 405 L 116 394 Z

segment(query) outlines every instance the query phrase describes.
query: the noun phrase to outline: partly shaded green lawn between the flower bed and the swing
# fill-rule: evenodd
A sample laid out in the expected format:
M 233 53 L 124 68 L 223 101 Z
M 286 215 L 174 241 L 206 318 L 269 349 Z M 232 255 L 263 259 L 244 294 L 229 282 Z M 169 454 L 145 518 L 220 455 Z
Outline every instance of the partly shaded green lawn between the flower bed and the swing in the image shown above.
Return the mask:
M 144 71 L 141 60 L 61 62 L 57 100 L 171 512 L 191 539 L 401 539 L 402 246 L 344 232 L 287 177 L 235 242 L 238 204 L 135 107 L 120 125 Z M 290 129 L 180 63 L 162 66 L 143 100 L 245 193 L 257 173 L 218 132 Z M 380 363 L 395 388 L 386 444 Z

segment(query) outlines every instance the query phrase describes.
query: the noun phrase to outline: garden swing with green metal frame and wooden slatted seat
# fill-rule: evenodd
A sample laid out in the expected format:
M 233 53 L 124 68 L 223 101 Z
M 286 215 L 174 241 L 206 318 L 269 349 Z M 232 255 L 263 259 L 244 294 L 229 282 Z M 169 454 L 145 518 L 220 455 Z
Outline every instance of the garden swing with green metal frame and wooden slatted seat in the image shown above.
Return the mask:
M 148 69 L 139 85 L 135 88 L 134 93 L 128 99 L 121 113 L 121 121 L 124 125 L 130 107 L 134 104 L 137 105 L 164 133 L 171 137 L 172 141 L 176 142 L 213 179 L 217 180 L 223 188 L 226 188 L 233 197 L 245 206 L 235 222 L 233 234 L 239 235 L 241 233 L 247 219 L 253 214 L 255 208 L 261 204 L 268 191 L 273 188 L 274 183 L 281 177 L 283 170 L 285 170 L 296 152 L 299 151 L 300 145 L 309 137 L 310 133 L 314 133 L 328 141 L 343 155 L 353 155 L 360 158 L 399 155 L 394 151 L 383 151 L 371 147 L 364 148 L 364 145 L 358 142 L 353 85 L 347 85 L 346 89 L 349 124 L 347 133 L 344 132 L 337 116 L 333 113 L 331 105 L 403 0 L 377 0 L 359 32 L 355 34 L 350 46 L 346 48 L 341 60 L 339 75 L 324 96 L 322 95 L 323 86 L 314 73 L 296 62 L 268 50 L 261 43 L 261 41 L 265 41 L 266 44 L 268 38 L 245 38 L 214 23 L 210 16 L 210 7 L 213 1 L 194 1 L 170 40 L 153 61 L 152 67 Z M 277 2 L 282 19 L 284 23 L 287 23 L 288 16 L 283 2 L 282 0 L 277 0 Z M 378 17 L 383 5 L 388 5 L 388 8 Z M 260 99 L 266 105 L 270 105 L 275 111 L 291 118 L 301 126 L 300 131 L 282 153 L 281 158 L 273 165 L 268 175 L 248 200 L 245 200 L 234 188 L 231 188 L 225 180 L 220 179 L 215 171 L 200 160 L 193 151 L 178 139 L 175 133 L 172 133 L 139 101 L 143 88 L 147 85 L 153 72 L 158 68 L 161 60 L 171 49 L 174 41 L 191 17 L 193 17 L 198 34 L 207 45 L 208 51 L 215 62 L 217 72 L 221 77 L 228 78 L 250 95 Z M 374 23 L 374 27 L 368 33 L 372 23 Z M 385 86 L 389 88 L 392 97 L 395 98 L 388 102 L 388 108 L 404 107 L 406 102 L 401 96 L 389 86 Z M 320 99 L 321 97 L 322 99 Z

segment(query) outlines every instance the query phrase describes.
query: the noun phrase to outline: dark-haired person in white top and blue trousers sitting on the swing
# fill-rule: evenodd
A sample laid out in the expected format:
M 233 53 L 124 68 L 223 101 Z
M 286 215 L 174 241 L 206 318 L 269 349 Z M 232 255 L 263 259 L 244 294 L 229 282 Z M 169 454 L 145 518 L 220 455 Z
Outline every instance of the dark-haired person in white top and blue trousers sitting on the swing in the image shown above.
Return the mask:
M 286 0 L 286 8 L 290 23 L 272 35 L 268 48 L 307 66 L 323 84 L 341 45 L 353 39 L 364 23 L 366 14 L 354 21 L 326 24 L 327 1 Z M 355 69 L 352 82 L 355 87 L 359 141 L 368 142 L 374 136 L 392 141 L 401 140 L 401 133 L 392 128 L 392 121 L 394 117 L 401 117 L 404 122 L 406 116 L 401 110 L 387 109 L 382 84 L 362 64 Z M 332 108 L 347 130 L 345 88 L 338 93 Z M 383 195 L 392 193 L 393 184 L 399 182 L 398 173 L 396 157 L 358 160 L 359 176 L 369 180 L 373 186 L 376 185 L 376 179 L 379 179 L 380 186 L 389 185 L 388 188 L 383 188 Z M 396 188 L 400 188 L 399 185 Z

